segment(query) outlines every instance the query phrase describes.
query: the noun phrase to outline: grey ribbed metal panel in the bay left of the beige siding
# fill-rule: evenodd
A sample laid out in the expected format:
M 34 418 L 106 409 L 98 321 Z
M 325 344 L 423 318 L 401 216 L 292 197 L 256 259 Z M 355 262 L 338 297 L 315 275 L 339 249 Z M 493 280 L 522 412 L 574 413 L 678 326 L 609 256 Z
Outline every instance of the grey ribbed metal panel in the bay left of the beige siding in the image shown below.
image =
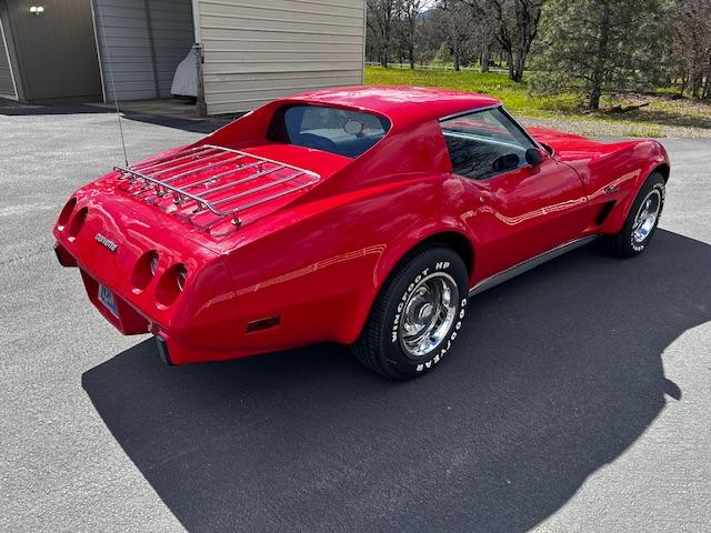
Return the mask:
M 194 42 L 190 0 L 93 0 L 107 101 L 170 97 Z

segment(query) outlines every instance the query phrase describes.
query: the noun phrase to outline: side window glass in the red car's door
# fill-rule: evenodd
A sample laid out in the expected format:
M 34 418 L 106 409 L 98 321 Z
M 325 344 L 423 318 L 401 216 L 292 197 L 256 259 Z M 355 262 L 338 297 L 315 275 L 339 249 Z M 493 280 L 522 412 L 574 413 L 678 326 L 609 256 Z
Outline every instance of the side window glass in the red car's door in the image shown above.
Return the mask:
M 440 121 L 452 170 L 473 180 L 525 165 L 531 140 L 499 108 Z

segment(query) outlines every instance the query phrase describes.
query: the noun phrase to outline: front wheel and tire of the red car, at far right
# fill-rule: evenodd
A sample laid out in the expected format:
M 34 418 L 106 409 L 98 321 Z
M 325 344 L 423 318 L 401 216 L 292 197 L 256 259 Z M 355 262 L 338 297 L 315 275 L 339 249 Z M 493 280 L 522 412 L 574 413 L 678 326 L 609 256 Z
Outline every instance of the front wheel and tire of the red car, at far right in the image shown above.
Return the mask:
M 633 258 L 649 245 L 664 207 L 664 178 L 652 172 L 637 194 L 622 229 L 605 235 L 607 250 L 619 258 Z

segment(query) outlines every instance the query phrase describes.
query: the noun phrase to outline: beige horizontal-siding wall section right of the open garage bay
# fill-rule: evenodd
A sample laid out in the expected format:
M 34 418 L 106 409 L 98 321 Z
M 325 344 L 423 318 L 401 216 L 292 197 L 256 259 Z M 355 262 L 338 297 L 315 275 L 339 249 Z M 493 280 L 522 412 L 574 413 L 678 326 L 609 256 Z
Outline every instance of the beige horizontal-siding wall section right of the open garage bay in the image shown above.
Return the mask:
M 193 0 L 209 114 L 363 82 L 365 0 Z

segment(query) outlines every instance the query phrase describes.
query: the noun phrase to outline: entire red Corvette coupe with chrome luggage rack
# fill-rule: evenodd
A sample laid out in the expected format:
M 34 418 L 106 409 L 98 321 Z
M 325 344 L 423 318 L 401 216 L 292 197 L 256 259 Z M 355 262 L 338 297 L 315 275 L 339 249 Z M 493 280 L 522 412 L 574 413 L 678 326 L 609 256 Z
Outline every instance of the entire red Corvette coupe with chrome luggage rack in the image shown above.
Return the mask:
M 481 94 L 332 89 L 116 167 L 71 197 L 56 251 L 170 364 L 333 341 L 407 379 L 473 294 L 594 239 L 641 253 L 668 178 L 655 141 L 525 131 Z

